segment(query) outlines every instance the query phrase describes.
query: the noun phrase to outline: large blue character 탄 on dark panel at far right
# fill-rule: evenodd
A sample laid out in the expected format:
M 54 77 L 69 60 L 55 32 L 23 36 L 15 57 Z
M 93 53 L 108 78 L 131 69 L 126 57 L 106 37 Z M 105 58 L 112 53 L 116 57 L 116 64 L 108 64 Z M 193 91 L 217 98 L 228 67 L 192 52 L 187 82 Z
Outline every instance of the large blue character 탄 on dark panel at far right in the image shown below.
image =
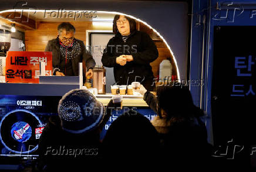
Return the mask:
M 248 59 L 248 66 L 245 65 Z M 237 69 L 237 76 L 238 77 L 251 77 L 252 76 L 252 70 L 251 66 L 255 64 L 254 61 L 252 61 L 252 56 L 246 57 L 235 57 L 235 69 Z M 241 69 L 244 69 L 241 71 Z M 246 70 L 245 70 L 246 69 Z

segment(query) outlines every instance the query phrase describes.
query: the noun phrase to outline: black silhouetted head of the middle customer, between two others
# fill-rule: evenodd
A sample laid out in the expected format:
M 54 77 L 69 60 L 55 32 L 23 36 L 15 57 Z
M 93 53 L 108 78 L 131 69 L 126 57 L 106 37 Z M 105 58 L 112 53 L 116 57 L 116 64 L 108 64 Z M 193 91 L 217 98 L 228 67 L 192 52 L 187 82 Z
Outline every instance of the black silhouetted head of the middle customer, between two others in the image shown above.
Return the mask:
M 148 168 L 159 157 L 160 140 L 149 119 L 130 110 L 112 122 L 103 139 L 103 154 L 113 168 Z

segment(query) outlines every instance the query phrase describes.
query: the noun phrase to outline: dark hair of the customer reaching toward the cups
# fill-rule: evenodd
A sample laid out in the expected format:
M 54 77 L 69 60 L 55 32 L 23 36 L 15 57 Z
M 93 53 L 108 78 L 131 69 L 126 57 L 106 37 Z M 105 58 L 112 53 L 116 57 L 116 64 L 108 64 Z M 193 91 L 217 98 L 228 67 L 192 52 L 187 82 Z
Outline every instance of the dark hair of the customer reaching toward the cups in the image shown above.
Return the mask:
M 177 84 L 177 83 L 176 83 Z M 161 118 L 160 109 L 167 113 L 167 119 L 173 116 L 203 116 L 204 112 L 194 105 L 190 90 L 187 86 L 177 84 L 174 86 L 157 87 L 157 113 Z

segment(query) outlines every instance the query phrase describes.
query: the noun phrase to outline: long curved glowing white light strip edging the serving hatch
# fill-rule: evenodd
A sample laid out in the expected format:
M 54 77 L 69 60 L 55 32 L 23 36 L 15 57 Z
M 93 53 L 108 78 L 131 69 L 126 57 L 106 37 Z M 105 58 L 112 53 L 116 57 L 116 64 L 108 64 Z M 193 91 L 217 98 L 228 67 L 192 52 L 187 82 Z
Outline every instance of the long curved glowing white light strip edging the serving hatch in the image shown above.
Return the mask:
M 52 12 L 52 11 L 58 11 L 57 10 L 42 10 L 42 9 L 8 9 L 8 10 L 5 10 L 5 11 L 1 11 L 0 13 L 4 13 L 4 12 Z M 88 11 L 88 10 L 65 10 L 65 11 L 71 11 L 71 12 L 82 12 L 82 11 Z M 120 12 L 111 12 L 111 11 L 96 11 L 96 12 L 99 12 L 99 13 L 112 13 L 114 15 L 124 15 L 124 16 L 129 16 L 129 18 L 132 18 L 132 19 L 135 19 L 139 22 L 142 22 L 144 25 L 148 26 L 150 29 L 153 29 L 154 32 L 156 32 L 156 34 L 163 40 L 163 42 L 166 44 L 167 48 L 170 50 L 170 53 L 171 53 L 171 56 L 173 56 L 173 60 L 174 60 L 174 63 L 176 65 L 176 68 L 177 68 L 177 75 L 178 75 L 178 80 L 180 81 L 180 71 L 178 70 L 178 66 L 177 66 L 177 61 L 176 61 L 176 58 L 174 57 L 174 54 L 173 54 L 173 51 L 171 51 L 171 48 L 169 46 L 169 44 L 167 44 L 166 40 L 163 38 L 163 36 L 160 35 L 159 32 L 157 32 L 156 29 L 154 29 L 153 27 L 151 27 L 150 25 L 148 25 L 146 22 L 143 22 L 142 20 L 140 19 L 137 19 L 137 18 L 134 18 L 134 16 L 131 16 L 131 15 L 126 15 L 124 13 L 120 13 Z

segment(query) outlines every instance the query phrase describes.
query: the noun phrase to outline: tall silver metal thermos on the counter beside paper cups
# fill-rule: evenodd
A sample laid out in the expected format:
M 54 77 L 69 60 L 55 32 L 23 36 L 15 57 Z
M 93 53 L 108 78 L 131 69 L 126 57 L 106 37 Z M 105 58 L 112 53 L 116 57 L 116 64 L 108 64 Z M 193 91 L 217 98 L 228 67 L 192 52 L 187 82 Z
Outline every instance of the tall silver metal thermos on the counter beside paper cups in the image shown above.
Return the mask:
M 98 94 L 106 94 L 106 69 L 103 66 L 93 68 L 93 88 L 97 88 Z

